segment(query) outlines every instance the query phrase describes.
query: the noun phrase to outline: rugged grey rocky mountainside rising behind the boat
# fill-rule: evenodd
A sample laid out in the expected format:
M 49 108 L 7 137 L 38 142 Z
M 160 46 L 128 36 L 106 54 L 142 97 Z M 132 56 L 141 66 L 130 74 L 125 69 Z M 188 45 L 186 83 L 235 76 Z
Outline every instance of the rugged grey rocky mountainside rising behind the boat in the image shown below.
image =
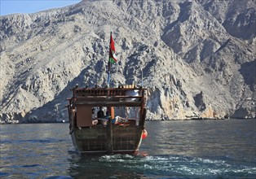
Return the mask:
M 69 89 L 148 87 L 148 119 L 254 118 L 254 0 L 82 1 L 0 17 L 0 120 L 68 120 Z

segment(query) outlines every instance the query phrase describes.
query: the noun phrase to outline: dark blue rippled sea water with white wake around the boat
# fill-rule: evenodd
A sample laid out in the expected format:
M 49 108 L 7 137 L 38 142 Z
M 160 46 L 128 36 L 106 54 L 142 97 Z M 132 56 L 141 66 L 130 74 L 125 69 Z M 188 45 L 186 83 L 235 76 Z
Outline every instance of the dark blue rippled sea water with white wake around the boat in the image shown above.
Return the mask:
M 68 124 L 0 127 L 1 178 L 256 177 L 256 120 L 147 122 L 136 156 L 79 155 Z

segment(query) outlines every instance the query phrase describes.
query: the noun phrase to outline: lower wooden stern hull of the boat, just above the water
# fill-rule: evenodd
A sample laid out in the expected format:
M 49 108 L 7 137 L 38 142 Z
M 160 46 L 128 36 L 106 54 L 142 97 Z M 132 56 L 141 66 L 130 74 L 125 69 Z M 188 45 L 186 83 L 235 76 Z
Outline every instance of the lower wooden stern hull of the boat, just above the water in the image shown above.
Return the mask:
M 111 130 L 109 124 L 76 128 L 71 133 L 73 145 L 77 151 L 86 154 L 136 154 L 139 151 L 142 140 L 139 126 L 113 125 Z

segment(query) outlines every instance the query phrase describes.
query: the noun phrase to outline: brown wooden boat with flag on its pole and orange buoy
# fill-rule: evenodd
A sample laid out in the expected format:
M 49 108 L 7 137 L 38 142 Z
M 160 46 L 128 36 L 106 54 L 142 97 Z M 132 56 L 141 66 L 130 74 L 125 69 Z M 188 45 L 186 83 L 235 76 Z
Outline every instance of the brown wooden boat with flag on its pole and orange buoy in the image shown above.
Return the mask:
M 110 62 L 117 61 L 112 34 L 110 38 L 108 86 Z M 144 129 L 146 89 L 135 85 L 117 88 L 77 85 L 72 91 L 72 98 L 68 98 L 69 133 L 77 151 L 86 154 L 139 151 L 142 138 L 148 134 Z

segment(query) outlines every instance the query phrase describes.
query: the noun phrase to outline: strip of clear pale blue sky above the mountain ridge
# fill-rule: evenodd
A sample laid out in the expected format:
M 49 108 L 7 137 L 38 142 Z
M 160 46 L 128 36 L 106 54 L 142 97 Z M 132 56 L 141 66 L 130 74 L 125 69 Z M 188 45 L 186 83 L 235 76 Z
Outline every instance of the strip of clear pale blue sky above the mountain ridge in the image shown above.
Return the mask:
M 0 0 L 0 15 L 34 13 L 52 8 L 66 7 L 82 0 Z

